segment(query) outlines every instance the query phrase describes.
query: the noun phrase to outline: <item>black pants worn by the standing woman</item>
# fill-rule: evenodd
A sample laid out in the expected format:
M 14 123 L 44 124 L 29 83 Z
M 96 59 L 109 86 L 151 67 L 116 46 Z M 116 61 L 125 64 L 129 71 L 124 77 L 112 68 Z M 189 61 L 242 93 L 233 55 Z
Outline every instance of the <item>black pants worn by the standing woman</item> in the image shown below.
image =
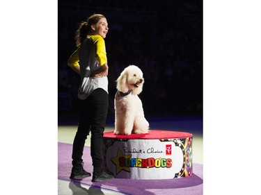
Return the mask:
M 79 100 L 79 126 L 72 148 L 73 166 L 81 166 L 85 140 L 91 132 L 90 155 L 93 169 L 97 173 L 102 171 L 102 142 L 108 105 L 108 94 L 101 88 L 94 90 L 87 99 Z

